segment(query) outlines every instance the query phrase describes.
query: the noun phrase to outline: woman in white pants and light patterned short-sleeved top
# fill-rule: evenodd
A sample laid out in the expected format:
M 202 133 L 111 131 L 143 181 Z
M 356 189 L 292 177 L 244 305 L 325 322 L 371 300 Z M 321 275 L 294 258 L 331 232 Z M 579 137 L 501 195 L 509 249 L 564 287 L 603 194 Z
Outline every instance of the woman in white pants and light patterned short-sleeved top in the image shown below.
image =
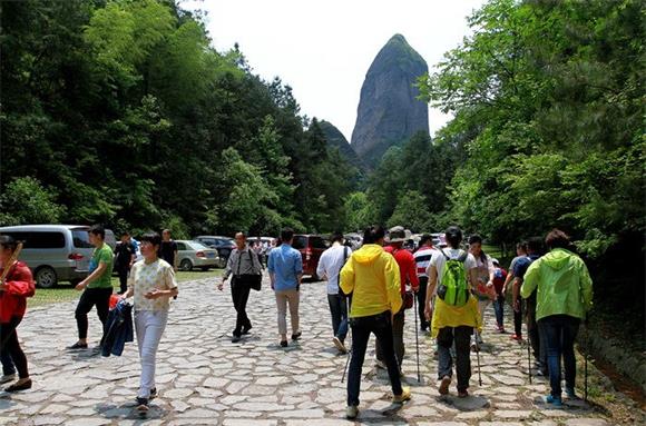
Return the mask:
M 168 319 L 169 298 L 177 296 L 173 266 L 157 257 L 161 237 L 146 234 L 140 239 L 143 260 L 130 269 L 128 291 L 121 297 L 135 296 L 135 331 L 141 360 L 141 380 L 137 393 L 139 410 L 148 410 L 148 403 L 157 396 L 155 363 L 157 347 Z

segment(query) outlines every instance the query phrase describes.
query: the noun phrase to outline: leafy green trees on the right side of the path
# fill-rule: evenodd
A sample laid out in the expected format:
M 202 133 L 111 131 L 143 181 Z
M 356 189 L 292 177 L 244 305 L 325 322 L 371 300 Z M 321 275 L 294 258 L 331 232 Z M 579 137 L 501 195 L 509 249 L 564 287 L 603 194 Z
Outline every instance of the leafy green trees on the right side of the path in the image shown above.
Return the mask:
M 420 91 L 467 153 L 454 216 L 498 242 L 557 226 L 601 256 L 645 230 L 640 2 L 491 0 Z

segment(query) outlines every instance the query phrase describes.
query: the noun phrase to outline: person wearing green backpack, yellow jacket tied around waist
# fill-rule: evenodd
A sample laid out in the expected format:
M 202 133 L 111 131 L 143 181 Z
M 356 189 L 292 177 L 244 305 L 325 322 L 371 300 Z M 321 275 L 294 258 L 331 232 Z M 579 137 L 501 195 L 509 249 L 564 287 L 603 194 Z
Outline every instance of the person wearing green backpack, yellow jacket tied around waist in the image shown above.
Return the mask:
M 462 231 L 458 227 L 447 229 L 448 248 L 433 254 L 429 264 L 429 286 L 424 314 L 431 320 L 431 335 L 438 340 L 439 393 L 447 395 L 453 376 L 451 346 L 456 343 L 456 370 L 458 396 L 469 396 L 471 378 L 471 335 L 480 330 L 482 323 L 478 301 L 471 295 L 471 287 L 478 283 L 477 264 L 473 255 L 461 250 Z M 438 286 L 434 309 L 431 299 Z

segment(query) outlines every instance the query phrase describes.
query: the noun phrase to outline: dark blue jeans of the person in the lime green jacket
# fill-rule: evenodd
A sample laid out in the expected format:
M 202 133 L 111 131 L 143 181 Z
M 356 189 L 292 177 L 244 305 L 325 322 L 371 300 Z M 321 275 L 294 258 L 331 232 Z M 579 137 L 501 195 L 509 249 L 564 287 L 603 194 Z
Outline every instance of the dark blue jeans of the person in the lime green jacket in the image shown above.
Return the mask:
M 538 321 L 547 346 L 547 366 L 551 396 L 560 398 L 560 358 L 564 358 L 566 388 L 575 388 L 577 364 L 575 358 L 575 339 L 579 331 L 580 320 L 568 315 L 550 315 Z

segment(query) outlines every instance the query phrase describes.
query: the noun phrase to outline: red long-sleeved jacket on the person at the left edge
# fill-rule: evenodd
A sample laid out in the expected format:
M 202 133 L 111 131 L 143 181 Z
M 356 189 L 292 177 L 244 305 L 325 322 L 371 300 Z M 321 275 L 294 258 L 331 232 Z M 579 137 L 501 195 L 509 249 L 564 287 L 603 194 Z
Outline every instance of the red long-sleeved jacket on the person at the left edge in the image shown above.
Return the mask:
M 3 269 L 0 269 L 0 274 Z M 0 323 L 6 324 L 12 317 L 22 318 L 27 308 L 27 298 L 33 296 L 36 284 L 31 271 L 22 261 L 11 266 L 11 271 L 4 279 L 7 289 L 0 291 Z

